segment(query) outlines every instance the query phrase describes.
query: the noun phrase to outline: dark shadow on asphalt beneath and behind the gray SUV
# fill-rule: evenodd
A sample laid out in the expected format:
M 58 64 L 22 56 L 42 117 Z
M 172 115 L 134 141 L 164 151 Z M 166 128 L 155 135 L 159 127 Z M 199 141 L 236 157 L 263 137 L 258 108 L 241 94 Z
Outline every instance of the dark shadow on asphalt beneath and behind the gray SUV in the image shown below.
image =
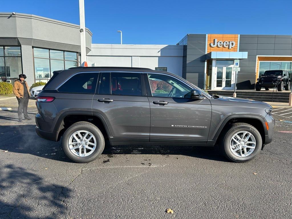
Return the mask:
M 38 157 L 74 163 L 62 149 L 62 141 L 53 142 L 39 137 L 35 132 L 35 125 L 0 126 L 0 149 L 9 152 L 32 154 Z M 3 134 L 2 134 L 3 133 Z M 159 146 L 159 145 L 125 145 L 111 147 L 106 142 L 102 154 L 111 157 L 118 154 L 159 154 L 183 155 L 201 159 L 227 161 L 220 156 L 215 147 L 194 146 Z

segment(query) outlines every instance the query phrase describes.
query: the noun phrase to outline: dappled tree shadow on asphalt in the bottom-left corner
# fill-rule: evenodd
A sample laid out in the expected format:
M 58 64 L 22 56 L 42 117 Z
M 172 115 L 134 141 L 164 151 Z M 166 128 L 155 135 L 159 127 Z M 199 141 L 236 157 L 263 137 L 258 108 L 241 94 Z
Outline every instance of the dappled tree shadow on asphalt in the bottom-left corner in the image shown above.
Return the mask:
M 64 201 L 71 193 L 67 187 L 48 183 L 25 168 L 11 164 L 1 166 L 0 218 L 65 217 Z

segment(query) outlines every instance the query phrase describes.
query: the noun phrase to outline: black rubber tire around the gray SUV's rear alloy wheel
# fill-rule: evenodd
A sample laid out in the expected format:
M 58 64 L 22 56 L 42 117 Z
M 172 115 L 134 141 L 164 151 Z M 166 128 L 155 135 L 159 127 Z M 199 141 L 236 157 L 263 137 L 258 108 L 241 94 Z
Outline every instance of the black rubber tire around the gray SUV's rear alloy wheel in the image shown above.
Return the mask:
M 91 132 L 96 139 L 96 148 L 93 151 L 93 153 L 88 155 L 87 157 L 79 157 L 79 156 L 73 154 L 71 152 L 71 150 L 69 149 L 68 142 L 69 142 L 70 136 L 74 132 L 80 131 L 80 130 L 85 130 L 85 131 Z M 62 145 L 63 145 L 63 150 L 64 150 L 65 154 L 70 159 L 72 159 L 73 161 L 76 161 L 78 163 L 88 163 L 88 162 L 95 160 L 98 156 L 100 156 L 100 154 L 102 153 L 102 151 L 105 148 L 105 139 L 104 139 L 101 131 L 95 125 L 93 125 L 89 122 L 77 122 L 77 123 L 74 123 L 73 125 L 71 125 L 69 128 L 67 128 L 67 130 L 65 131 L 65 133 L 63 135 Z

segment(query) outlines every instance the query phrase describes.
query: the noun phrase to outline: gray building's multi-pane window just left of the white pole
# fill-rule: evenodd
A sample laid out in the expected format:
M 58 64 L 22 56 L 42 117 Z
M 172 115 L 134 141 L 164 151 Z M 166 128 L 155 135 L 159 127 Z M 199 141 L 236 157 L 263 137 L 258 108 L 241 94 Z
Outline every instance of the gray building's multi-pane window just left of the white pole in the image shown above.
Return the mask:
M 33 48 L 36 82 L 47 82 L 53 71 L 80 66 L 79 54 L 53 49 Z

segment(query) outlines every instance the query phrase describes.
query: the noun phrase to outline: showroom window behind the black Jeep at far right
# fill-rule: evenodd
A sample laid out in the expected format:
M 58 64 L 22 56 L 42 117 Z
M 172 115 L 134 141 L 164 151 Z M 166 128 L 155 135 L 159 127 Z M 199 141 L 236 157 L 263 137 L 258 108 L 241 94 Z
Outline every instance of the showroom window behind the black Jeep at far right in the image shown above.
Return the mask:
M 268 70 L 287 70 L 289 72 L 289 76 L 291 76 L 292 72 L 292 62 L 265 62 L 260 61 L 259 75 L 260 78 L 265 71 Z

